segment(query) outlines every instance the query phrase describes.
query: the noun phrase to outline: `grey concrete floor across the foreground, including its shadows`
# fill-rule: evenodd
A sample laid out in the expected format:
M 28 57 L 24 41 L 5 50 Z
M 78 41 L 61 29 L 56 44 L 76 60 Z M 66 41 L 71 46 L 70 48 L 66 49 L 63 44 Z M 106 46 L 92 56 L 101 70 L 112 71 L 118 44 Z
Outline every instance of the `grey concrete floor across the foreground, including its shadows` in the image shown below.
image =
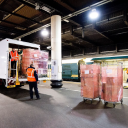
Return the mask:
M 83 102 L 80 83 L 63 82 L 52 89 L 39 85 L 41 100 L 29 99 L 28 85 L 0 89 L 0 128 L 128 128 L 128 89 L 124 103 L 104 107 L 103 101 Z

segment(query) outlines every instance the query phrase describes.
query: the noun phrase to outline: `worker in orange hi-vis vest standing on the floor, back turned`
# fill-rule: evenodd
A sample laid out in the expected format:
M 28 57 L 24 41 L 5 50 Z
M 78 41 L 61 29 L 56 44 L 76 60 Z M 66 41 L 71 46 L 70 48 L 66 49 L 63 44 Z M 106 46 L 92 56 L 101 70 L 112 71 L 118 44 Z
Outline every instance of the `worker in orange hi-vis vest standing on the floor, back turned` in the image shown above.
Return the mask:
M 40 99 L 39 96 L 39 92 L 38 92 L 38 87 L 37 87 L 37 83 L 38 83 L 38 75 L 37 72 L 34 68 L 34 65 L 31 64 L 30 67 L 28 67 L 26 69 L 27 71 L 27 80 L 29 83 L 29 89 L 30 89 L 30 99 L 33 99 L 33 88 L 35 90 L 35 95 L 37 99 Z

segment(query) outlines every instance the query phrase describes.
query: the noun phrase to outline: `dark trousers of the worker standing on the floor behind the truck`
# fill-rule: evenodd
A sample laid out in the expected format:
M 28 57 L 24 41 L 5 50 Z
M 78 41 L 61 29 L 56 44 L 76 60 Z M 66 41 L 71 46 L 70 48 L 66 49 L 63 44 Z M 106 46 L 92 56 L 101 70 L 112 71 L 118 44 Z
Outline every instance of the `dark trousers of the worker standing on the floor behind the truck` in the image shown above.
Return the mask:
M 40 98 L 38 87 L 37 87 L 37 82 L 29 82 L 30 98 L 33 99 L 33 88 L 35 90 L 36 98 Z

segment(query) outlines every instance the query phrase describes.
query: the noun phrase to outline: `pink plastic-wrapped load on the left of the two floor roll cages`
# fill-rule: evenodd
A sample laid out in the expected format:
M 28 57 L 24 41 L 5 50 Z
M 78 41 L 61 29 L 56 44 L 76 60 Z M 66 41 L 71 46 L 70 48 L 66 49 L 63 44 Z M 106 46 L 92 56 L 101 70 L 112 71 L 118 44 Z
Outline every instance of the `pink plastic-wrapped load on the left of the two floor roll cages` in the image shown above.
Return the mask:
M 99 97 L 100 65 L 80 65 L 81 96 L 94 99 Z

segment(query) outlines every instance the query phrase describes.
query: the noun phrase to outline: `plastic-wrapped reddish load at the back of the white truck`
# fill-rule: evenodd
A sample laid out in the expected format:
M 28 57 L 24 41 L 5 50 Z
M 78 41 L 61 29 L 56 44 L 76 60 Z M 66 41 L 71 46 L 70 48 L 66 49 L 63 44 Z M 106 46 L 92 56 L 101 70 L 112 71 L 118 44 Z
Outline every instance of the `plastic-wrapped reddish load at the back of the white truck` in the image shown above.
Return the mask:
M 24 49 L 22 56 L 22 73 L 26 75 L 26 69 L 31 63 L 33 63 L 38 76 L 46 76 L 48 70 L 48 57 L 48 52 L 34 49 Z

